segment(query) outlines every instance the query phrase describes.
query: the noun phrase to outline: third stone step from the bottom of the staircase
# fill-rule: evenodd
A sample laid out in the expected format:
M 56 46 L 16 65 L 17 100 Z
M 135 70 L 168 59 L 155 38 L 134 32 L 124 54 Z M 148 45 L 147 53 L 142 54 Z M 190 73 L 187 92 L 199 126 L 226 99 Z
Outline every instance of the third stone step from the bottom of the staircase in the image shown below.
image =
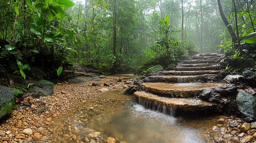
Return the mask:
M 165 82 L 165 83 L 190 83 L 190 82 L 221 82 L 219 75 L 205 74 L 198 76 L 150 76 L 143 80 L 144 82 Z

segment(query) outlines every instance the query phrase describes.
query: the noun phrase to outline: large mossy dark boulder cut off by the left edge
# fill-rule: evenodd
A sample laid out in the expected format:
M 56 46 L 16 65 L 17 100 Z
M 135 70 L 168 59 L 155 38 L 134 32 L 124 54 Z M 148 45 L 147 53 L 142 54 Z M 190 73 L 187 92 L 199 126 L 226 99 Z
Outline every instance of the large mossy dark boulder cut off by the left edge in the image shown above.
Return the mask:
M 14 105 L 14 94 L 9 87 L 0 85 L 0 118 L 11 114 Z

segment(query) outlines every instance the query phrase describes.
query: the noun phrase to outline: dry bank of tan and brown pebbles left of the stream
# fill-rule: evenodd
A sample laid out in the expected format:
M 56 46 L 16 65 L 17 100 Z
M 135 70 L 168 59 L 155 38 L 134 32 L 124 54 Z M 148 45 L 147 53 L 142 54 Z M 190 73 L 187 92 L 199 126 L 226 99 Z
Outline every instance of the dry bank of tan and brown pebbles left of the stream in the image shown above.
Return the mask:
M 87 81 L 84 83 L 57 83 L 54 85 L 53 96 L 32 98 L 28 96 L 21 101 L 21 106 L 12 111 L 10 118 L 2 121 L 0 125 L 0 143 L 54 143 L 54 142 L 115 142 L 114 138 L 101 136 L 99 132 L 90 130 L 87 138 L 81 141 L 76 136 L 77 129 L 71 126 L 67 128 L 67 134 L 57 134 L 56 129 L 61 126 L 53 126 L 55 118 L 68 116 L 71 106 L 75 103 L 85 103 L 88 99 L 97 97 L 100 93 L 109 89 L 127 88 L 133 82 L 132 79 L 117 77 L 101 77 L 99 81 Z M 108 102 L 108 101 L 107 101 Z M 28 104 L 29 103 L 29 104 Z M 93 106 L 88 106 L 91 110 Z M 64 125 L 64 124 L 63 124 Z M 74 132 L 73 132 L 74 131 Z M 62 136 L 63 135 L 63 136 Z M 68 140 L 65 138 L 69 137 Z M 64 138 L 64 140 L 63 140 Z

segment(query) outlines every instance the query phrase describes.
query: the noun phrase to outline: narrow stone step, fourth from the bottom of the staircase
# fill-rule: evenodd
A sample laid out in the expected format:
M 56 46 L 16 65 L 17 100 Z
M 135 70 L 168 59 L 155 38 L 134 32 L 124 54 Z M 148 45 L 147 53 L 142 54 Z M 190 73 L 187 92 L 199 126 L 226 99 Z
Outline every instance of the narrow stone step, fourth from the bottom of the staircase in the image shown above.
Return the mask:
M 158 72 L 159 76 L 197 76 L 205 74 L 219 74 L 218 70 L 205 70 L 205 71 L 163 71 Z

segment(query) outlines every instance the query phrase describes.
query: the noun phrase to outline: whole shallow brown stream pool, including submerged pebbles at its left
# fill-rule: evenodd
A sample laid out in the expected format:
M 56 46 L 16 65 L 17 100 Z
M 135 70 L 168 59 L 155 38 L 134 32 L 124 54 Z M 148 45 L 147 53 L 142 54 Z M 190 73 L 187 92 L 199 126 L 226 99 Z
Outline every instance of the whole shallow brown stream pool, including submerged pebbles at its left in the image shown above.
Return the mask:
M 69 116 L 55 121 L 56 124 L 64 121 L 66 125 L 59 135 L 75 133 L 80 140 L 89 142 L 87 135 L 98 131 L 104 138 L 114 137 L 117 142 L 204 143 L 205 133 L 217 120 L 217 116 L 174 116 L 172 110 L 166 115 L 145 109 L 133 95 L 123 92 L 112 89 L 85 103 L 74 104 Z M 103 142 L 100 138 L 97 141 Z

